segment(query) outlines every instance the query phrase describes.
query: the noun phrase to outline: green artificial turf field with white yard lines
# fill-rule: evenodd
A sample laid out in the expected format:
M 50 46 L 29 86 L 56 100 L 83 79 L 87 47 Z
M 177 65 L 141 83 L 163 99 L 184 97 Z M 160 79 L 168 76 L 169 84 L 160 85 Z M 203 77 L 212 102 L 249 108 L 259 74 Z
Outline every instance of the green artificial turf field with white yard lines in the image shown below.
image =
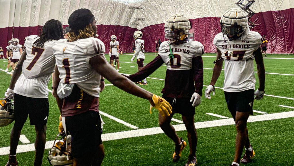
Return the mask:
M 198 132 L 197 159 L 198 165 L 229 165 L 234 158 L 235 126 L 230 119 L 226 107 L 223 90 L 223 72 L 216 83 L 216 95 L 211 100 L 205 99 L 204 91 L 209 85 L 216 54 L 204 54 L 204 87 L 200 106 L 196 107 L 196 128 Z M 132 74 L 137 71 L 137 64 L 131 63 L 131 54 L 120 55 L 120 73 Z M 144 63 L 155 58 L 154 53 L 146 53 Z M 277 59 L 284 58 L 284 59 Z M 290 59 L 287 59 L 290 58 Z M 106 59 L 109 59 L 106 55 Z M 2 70 L 6 69 L 6 60 L 0 60 L 0 94 L 9 86 L 11 76 Z M 266 80 L 265 96 L 255 101 L 254 113 L 248 123 L 249 137 L 256 152 L 250 165 L 294 165 L 294 55 L 270 55 L 264 59 Z M 11 70 L 11 69 L 10 69 Z M 256 71 L 256 67 L 255 67 Z M 166 66 L 160 67 L 147 78 L 148 85 L 142 86 L 148 91 L 161 95 L 164 86 Z M 285 75 L 281 75 L 285 74 Z M 255 73 L 258 87 L 258 77 Z M 158 79 L 153 79 L 158 78 Z M 162 80 L 160 80 L 162 79 Z M 175 80 L 176 81 L 176 80 Z M 106 80 L 106 84 L 110 84 Z M 51 82 L 49 86 L 51 87 Z M 50 88 L 51 89 L 51 88 Z M 50 113 L 47 128 L 47 141 L 52 141 L 58 134 L 59 110 L 51 94 L 49 94 Z M 38 104 L 38 103 L 31 103 Z M 283 107 L 288 106 L 288 107 Z M 182 158 L 173 163 L 171 160 L 174 143 L 158 128 L 158 112 L 149 114 L 149 102 L 131 96 L 120 89 L 109 85 L 101 93 L 100 110 L 105 125 L 103 126 L 103 143 L 105 159 L 102 165 L 148 165 L 148 166 L 182 166 L 186 163 L 189 148 L 183 150 Z M 218 114 L 228 118 L 220 118 L 206 113 Z M 113 117 L 117 118 L 116 120 Z M 181 116 L 174 116 L 178 135 L 187 140 L 187 132 L 181 123 Z M 120 121 L 119 121 L 120 120 Z M 218 120 L 218 121 L 215 121 Z M 119 122 L 118 122 L 119 121 Z M 123 122 L 125 124 L 122 124 Z M 209 122 L 207 122 L 209 121 Z M 8 160 L 9 137 L 13 123 L 0 128 L 0 165 Z M 139 128 L 139 129 L 134 129 Z M 152 129 L 149 129 L 152 128 Z M 120 133 L 118 133 L 120 132 Z M 20 166 L 31 166 L 34 162 L 34 127 L 26 122 L 22 134 L 30 143 L 19 142 L 17 160 Z M 48 142 L 46 147 L 51 147 Z M 45 150 L 43 165 L 49 166 Z M 241 164 L 242 165 L 242 164 Z

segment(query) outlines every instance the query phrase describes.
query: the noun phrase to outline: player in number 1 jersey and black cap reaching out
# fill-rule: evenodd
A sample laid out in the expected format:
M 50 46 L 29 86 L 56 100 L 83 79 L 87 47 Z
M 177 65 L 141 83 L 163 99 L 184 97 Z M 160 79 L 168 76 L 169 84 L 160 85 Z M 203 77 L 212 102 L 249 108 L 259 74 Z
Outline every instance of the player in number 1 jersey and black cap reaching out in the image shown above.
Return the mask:
M 105 46 L 95 38 L 96 20 L 90 10 L 74 11 L 68 21 L 71 28 L 69 40 L 59 40 L 53 46 L 56 57 L 53 93 L 56 98 L 63 98 L 62 124 L 71 133 L 74 165 L 98 166 L 104 158 L 99 117 L 103 77 L 130 94 L 148 99 L 162 115 L 169 116 L 172 113 L 171 106 L 164 99 L 120 75 L 106 61 Z

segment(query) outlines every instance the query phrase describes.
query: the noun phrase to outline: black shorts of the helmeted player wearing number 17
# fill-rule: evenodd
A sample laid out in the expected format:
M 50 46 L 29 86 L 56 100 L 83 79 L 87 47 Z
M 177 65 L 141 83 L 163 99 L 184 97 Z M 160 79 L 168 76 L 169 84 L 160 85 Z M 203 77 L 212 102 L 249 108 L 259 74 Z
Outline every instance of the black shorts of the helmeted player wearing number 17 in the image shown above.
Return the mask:
M 250 112 L 253 115 L 254 90 L 249 89 L 241 92 L 225 92 L 225 100 L 233 117 L 236 112 Z

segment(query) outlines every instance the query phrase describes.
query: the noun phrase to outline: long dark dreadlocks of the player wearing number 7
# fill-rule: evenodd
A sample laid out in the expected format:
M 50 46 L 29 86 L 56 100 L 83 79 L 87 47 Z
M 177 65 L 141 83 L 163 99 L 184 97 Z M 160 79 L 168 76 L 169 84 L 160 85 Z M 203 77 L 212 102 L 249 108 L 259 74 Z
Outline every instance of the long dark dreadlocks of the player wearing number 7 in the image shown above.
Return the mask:
M 56 19 L 48 20 L 40 29 L 39 39 L 37 39 L 33 47 L 43 48 L 44 43 L 49 40 L 59 40 L 63 38 L 63 27 L 60 21 Z

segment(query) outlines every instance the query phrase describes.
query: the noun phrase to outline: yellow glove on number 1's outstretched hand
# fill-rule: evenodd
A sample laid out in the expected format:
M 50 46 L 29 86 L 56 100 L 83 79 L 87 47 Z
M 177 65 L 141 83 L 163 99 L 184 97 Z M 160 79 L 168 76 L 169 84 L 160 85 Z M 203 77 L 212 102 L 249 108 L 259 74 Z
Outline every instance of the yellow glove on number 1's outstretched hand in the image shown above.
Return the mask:
M 149 109 L 150 114 L 152 114 L 152 111 L 151 111 L 152 107 L 157 109 L 161 113 L 162 116 L 164 116 L 164 115 L 170 116 L 170 114 L 173 113 L 171 111 L 173 109 L 171 107 L 171 104 L 169 104 L 164 98 L 161 98 L 161 97 L 153 94 L 152 101 L 155 105 L 152 106 L 150 104 L 150 109 Z

